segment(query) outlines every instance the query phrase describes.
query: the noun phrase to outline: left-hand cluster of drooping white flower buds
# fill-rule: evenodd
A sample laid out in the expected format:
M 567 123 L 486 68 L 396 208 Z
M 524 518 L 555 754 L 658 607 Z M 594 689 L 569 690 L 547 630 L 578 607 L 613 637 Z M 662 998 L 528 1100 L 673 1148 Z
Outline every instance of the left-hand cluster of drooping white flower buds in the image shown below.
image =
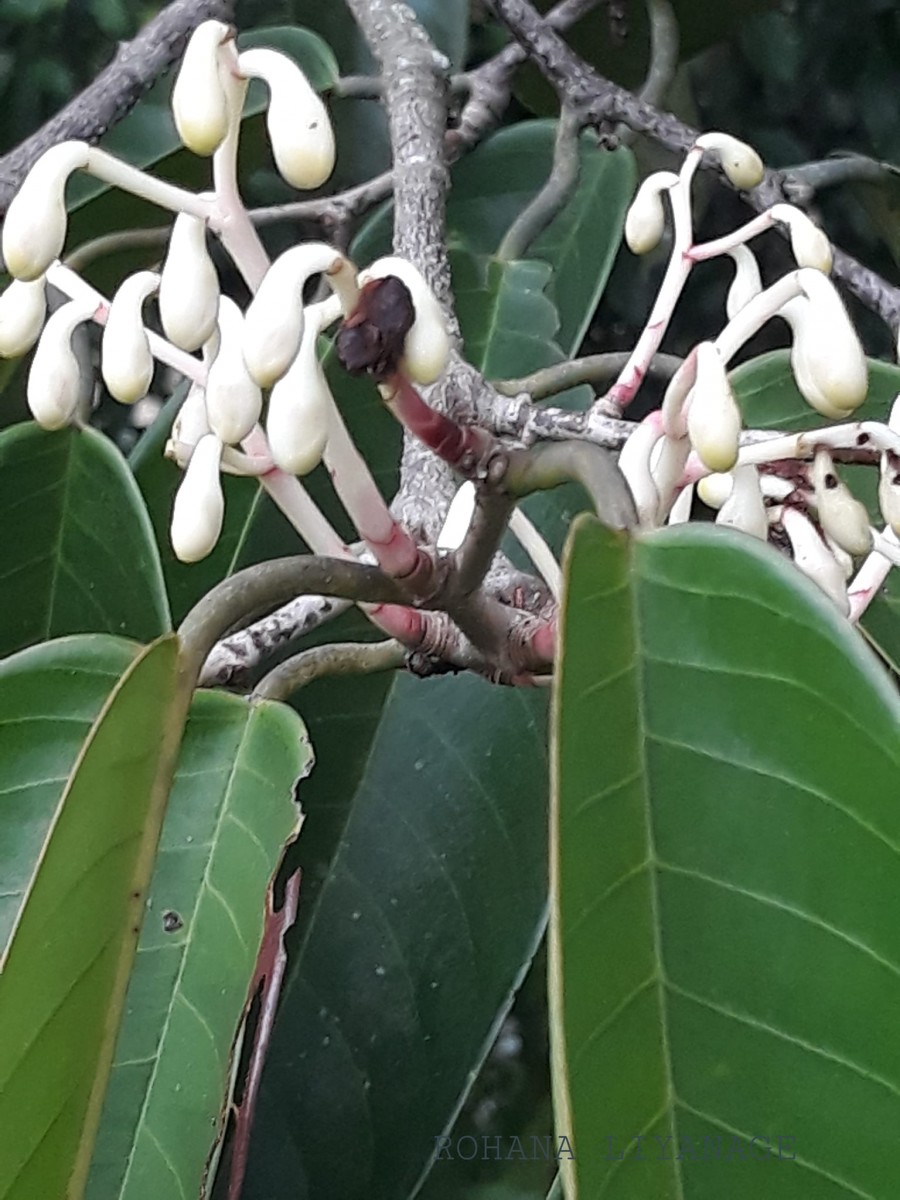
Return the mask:
M 320 186 L 335 163 L 324 104 L 290 59 L 269 49 L 239 52 L 233 30 L 221 22 L 196 30 L 175 80 L 172 107 L 181 140 L 198 155 L 229 155 L 233 169 L 251 78 L 263 79 L 269 89 L 266 126 L 280 173 L 298 188 Z M 108 305 L 86 286 L 73 287 L 72 299 L 47 319 L 48 283 L 64 292 L 72 284 L 73 272 L 56 260 L 66 238 L 65 186 L 77 169 L 156 199 L 176 217 L 158 272 L 143 270 L 126 278 Z M 43 427 L 61 428 L 76 419 L 83 380 L 72 335 L 91 319 L 104 325 L 101 373 L 115 400 L 133 404 L 146 395 L 155 358 L 192 379 L 167 446 L 169 457 L 185 468 L 170 527 L 174 551 L 184 562 L 205 557 L 218 540 L 222 470 L 264 475 L 277 468 L 305 475 L 322 461 L 336 416 L 318 338 L 353 312 L 367 281 L 394 275 L 409 290 L 415 317 L 400 368 L 410 379 L 434 380 L 449 353 L 440 308 L 409 263 L 385 258 L 358 275 L 343 254 L 323 242 L 281 254 L 242 313 L 221 293 L 208 250 L 217 199 L 216 193 L 181 193 L 101 150 L 68 142 L 35 164 L 4 224 L 4 258 L 14 281 L 0 295 L 0 356 L 22 355 L 37 343 L 26 394 Z M 305 286 L 318 275 L 332 295 L 305 306 Z M 151 296 L 164 340 L 145 326 L 144 305 Z M 193 358 L 197 352 L 202 359 Z M 244 452 L 239 448 L 247 439 Z

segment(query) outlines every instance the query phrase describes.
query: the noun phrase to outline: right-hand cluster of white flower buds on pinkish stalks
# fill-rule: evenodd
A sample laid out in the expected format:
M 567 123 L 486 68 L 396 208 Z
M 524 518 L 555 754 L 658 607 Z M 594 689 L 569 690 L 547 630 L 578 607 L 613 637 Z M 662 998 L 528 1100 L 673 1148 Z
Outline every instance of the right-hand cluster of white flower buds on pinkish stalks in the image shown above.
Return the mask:
M 638 254 L 659 245 L 666 227 L 662 197 L 667 196 L 673 215 L 672 258 L 650 323 L 665 326 L 692 263 L 728 254 L 734 277 L 726 299 L 726 324 L 714 341 L 695 347 L 676 372 L 661 409 L 631 434 L 619 464 L 644 527 L 688 520 L 696 484 L 701 499 L 718 510 L 719 524 L 763 540 L 773 529 L 778 540 L 780 532 L 800 570 L 848 612 L 847 580 L 854 559 L 872 551 L 893 553 L 893 542 L 886 545 L 884 535 L 870 526 L 865 506 L 840 479 L 832 451 L 865 444 L 881 452 L 878 504 L 886 529 L 895 538 L 900 533 L 900 402 L 884 426 L 846 424 L 742 448 L 742 413 L 727 367 L 764 322 L 781 317 L 790 325 L 797 388 L 829 421 L 852 422 L 866 397 L 868 362 L 828 278 L 828 239 L 805 212 L 776 204 L 732 235 L 692 244 L 690 182 L 704 151 L 719 158 L 736 187 L 762 181 L 762 162 L 750 146 L 727 134 L 704 134 L 679 174 L 656 172 L 643 181 L 628 212 L 625 240 Z M 797 269 L 764 288 L 746 241 L 775 223 L 787 227 Z M 779 472 L 778 466 L 764 469 L 804 457 L 812 458 L 811 466 L 797 464 L 793 474 Z

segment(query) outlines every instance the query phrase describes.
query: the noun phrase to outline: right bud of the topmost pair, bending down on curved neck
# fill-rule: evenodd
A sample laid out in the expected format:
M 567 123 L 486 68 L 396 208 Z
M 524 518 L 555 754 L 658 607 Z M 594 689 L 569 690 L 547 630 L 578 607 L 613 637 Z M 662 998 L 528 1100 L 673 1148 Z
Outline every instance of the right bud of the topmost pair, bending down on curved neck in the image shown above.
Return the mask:
M 335 169 L 335 136 L 325 106 L 300 67 L 277 50 L 244 50 L 238 71 L 269 85 L 265 115 L 282 179 L 304 191 L 320 187 Z

